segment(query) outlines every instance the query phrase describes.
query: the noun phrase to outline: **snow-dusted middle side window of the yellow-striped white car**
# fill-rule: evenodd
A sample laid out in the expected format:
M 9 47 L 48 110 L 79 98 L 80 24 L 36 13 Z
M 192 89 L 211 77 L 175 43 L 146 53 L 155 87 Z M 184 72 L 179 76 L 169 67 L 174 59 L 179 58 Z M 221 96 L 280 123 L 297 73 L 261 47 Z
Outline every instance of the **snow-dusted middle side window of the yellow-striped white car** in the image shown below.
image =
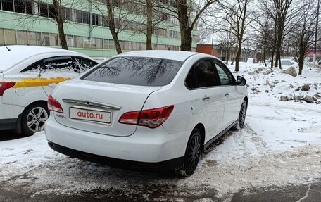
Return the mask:
M 71 56 L 46 58 L 43 67 L 45 72 L 79 72 Z

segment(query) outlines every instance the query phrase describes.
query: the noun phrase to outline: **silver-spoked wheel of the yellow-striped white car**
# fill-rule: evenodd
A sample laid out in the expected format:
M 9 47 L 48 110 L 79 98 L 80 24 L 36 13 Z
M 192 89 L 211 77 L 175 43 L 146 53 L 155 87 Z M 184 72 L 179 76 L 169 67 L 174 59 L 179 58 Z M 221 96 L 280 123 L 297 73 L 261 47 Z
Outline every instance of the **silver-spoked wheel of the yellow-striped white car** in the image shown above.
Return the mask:
M 33 103 L 25 108 L 21 120 L 24 136 L 31 136 L 35 132 L 44 130 L 44 122 L 49 118 L 48 106 L 44 102 Z

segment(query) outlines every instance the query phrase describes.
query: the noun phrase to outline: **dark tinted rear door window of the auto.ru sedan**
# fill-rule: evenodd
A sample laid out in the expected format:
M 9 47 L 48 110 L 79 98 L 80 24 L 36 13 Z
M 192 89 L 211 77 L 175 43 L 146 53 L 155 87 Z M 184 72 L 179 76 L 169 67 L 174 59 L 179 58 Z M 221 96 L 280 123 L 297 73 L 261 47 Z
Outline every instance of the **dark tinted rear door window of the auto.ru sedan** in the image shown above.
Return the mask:
M 210 60 L 201 61 L 189 70 L 185 83 L 189 89 L 218 85 L 215 70 Z

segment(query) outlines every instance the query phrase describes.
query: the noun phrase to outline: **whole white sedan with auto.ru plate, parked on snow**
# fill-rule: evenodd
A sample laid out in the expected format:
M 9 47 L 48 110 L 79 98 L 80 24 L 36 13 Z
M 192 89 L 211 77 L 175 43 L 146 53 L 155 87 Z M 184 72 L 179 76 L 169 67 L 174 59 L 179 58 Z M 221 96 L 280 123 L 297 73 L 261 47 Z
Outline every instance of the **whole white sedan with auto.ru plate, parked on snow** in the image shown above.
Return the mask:
M 191 175 L 203 149 L 243 127 L 245 84 L 206 54 L 124 53 L 58 84 L 48 101 L 46 139 L 75 158 Z

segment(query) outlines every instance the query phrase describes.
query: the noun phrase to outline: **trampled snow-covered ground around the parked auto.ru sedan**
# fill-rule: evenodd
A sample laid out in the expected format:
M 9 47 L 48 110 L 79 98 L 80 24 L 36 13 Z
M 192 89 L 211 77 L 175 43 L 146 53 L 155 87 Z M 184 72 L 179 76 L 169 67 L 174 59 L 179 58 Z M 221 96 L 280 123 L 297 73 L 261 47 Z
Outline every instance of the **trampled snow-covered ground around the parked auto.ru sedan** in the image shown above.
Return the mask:
M 269 72 L 260 64 L 241 63 L 238 75 L 248 81 L 250 100 L 246 125 L 210 146 L 191 177 L 121 170 L 68 158 L 52 151 L 39 132 L 0 142 L 1 189 L 26 191 L 31 198 L 107 190 L 116 196 L 184 201 L 189 196 L 204 198 L 211 191 L 216 198 L 228 200 L 241 189 L 314 182 L 321 178 L 321 104 L 317 104 L 321 69 L 306 66 L 297 77 L 277 69 Z M 308 91 L 299 88 L 304 84 L 309 84 Z M 307 103 L 306 95 L 315 96 L 315 101 Z M 280 101 L 281 96 L 297 99 Z

